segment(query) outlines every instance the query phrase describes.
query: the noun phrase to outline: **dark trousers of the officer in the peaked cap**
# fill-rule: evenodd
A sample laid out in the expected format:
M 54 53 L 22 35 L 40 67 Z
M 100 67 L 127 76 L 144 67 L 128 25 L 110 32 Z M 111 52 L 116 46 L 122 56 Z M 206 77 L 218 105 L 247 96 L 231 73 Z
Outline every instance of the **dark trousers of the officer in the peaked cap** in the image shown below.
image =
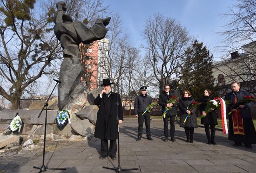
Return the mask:
M 145 113 L 144 115 L 139 115 L 138 117 L 138 136 L 142 136 L 142 131 L 143 131 L 143 123 L 145 120 L 145 125 L 146 125 L 146 134 L 147 137 L 150 137 L 150 114 Z

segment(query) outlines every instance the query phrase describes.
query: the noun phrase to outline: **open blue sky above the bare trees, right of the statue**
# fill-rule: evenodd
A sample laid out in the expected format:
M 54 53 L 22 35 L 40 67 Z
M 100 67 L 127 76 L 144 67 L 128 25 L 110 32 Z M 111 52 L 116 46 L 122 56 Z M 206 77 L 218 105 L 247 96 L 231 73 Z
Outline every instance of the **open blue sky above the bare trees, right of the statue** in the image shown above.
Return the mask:
M 227 19 L 221 14 L 228 11 L 236 0 L 105 0 L 113 12 L 121 15 L 121 20 L 130 41 L 136 46 L 143 44 L 142 31 L 149 16 L 162 13 L 180 21 L 191 36 L 209 48 L 214 58 L 221 57 L 216 49 L 221 46 L 222 37 L 216 32 L 223 31 Z M 142 51 L 143 54 L 143 51 Z

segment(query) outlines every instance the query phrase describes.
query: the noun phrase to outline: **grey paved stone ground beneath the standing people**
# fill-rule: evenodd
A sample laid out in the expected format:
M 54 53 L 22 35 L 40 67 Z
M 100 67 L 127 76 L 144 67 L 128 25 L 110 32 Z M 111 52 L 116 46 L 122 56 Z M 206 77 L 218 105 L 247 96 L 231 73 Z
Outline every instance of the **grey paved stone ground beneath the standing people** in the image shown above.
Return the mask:
M 256 145 L 253 149 L 233 147 L 228 135 L 216 131 L 217 145 L 208 145 L 204 128 L 195 129 L 194 143 L 185 141 L 183 128 L 176 124 L 176 142 L 164 142 L 162 120 L 152 120 L 154 141 L 146 135 L 141 141 L 137 137 L 137 119 L 126 119 L 120 126 L 120 165 L 135 168 L 124 173 L 256 173 Z M 145 132 L 145 129 L 144 131 Z M 116 167 L 118 160 L 99 159 L 100 140 L 65 145 L 61 150 L 48 152 L 45 165 L 49 168 L 66 167 L 67 170 L 48 173 L 114 173 L 102 166 Z M 2 157 L 1 160 L 5 160 Z M 1 162 L 0 160 L 0 162 Z M 0 165 L 0 173 L 38 173 L 33 166 L 42 165 L 42 156 L 16 156 Z

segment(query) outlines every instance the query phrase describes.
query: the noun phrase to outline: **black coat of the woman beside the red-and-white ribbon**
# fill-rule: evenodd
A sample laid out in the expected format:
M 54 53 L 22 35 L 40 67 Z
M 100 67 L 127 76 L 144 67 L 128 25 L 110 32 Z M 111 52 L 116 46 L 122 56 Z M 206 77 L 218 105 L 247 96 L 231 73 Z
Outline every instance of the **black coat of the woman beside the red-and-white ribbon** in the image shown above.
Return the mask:
M 200 114 L 202 115 L 202 111 L 205 111 L 205 107 L 207 105 L 207 102 L 209 100 L 213 100 L 214 97 L 212 95 L 210 96 L 202 96 L 199 100 L 199 102 L 201 103 L 199 105 L 199 110 L 200 110 Z M 211 125 L 217 125 L 218 121 L 217 121 L 217 113 L 216 110 L 213 110 L 209 113 L 206 114 L 205 117 L 201 118 L 201 124 L 211 124 Z

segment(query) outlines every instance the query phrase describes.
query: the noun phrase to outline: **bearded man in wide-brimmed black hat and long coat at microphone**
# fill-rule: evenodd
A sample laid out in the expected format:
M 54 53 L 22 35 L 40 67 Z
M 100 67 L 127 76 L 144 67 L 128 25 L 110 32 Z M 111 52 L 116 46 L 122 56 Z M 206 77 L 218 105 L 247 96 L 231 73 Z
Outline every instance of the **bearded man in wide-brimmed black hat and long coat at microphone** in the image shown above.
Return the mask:
M 101 139 L 100 159 L 104 159 L 109 155 L 112 160 L 115 160 L 118 123 L 123 122 L 123 111 L 120 95 L 111 91 L 111 84 L 113 83 L 109 79 L 103 79 L 101 86 L 104 86 L 104 90 L 94 100 L 94 104 L 99 106 L 94 136 Z M 119 103 L 118 107 L 116 104 L 117 100 Z M 119 122 L 117 122 L 116 117 L 117 109 Z M 109 148 L 108 140 L 110 140 Z

